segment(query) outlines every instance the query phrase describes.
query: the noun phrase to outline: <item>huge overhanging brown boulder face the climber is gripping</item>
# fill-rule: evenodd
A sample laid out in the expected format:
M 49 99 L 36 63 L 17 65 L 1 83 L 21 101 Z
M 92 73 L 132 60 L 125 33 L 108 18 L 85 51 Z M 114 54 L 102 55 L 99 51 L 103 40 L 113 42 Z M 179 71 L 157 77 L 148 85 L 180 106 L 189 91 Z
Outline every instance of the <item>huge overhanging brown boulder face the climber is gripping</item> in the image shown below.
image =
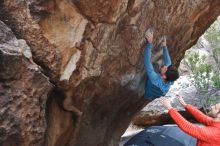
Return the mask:
M 117 145 L 146 102 L 146 29 L 156 29 L 152 60 L 161 63 L 157 42 L 167 35 L 178 65 L 220 14 L 219 0 L 2 0 L 0 7 L 0 20 L 55 86 L 44 92 L 45 137 L 35 139 L 48 146 Z

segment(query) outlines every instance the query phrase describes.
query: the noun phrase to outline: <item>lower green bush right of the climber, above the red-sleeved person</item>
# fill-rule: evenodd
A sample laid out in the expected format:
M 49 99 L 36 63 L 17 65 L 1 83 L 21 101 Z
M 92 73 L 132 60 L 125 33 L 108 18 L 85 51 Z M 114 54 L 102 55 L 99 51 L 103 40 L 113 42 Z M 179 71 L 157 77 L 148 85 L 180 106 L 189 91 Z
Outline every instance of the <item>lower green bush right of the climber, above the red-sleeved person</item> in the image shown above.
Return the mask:
M 198 52 L 189 51 L 185 56 L 185 64 L 190 68 L 192 73 L 190 78 L 197 93 L 200 97 L 200 102 L 204 110 L 217 102 L 218 97 L 212 95 L 210 91 L 219 90 L 219 74 L 214 73 L 213 66 L 205 63 L 206 57 L 199 55 Z

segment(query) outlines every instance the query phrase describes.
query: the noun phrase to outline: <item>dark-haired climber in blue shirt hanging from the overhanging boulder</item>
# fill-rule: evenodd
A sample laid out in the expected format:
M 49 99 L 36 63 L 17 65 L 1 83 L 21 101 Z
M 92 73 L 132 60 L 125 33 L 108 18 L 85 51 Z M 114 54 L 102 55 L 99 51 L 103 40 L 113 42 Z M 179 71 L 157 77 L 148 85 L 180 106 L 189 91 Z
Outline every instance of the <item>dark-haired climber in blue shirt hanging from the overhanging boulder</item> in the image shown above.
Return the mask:
M 144 66 L 147 73 L 144 97 L 152 101 L 164 96 L 175 80 L 179 78 L 178 70 L 171 64 L 170 55 L 166 46 L 166 37 L 162 37 L 163 62 L 160 73 L 156 73 L 151 63 L 151 49 L 153 47 L 153 29 L 146 31 L 145 37 L 148 41 L 144 52 Z

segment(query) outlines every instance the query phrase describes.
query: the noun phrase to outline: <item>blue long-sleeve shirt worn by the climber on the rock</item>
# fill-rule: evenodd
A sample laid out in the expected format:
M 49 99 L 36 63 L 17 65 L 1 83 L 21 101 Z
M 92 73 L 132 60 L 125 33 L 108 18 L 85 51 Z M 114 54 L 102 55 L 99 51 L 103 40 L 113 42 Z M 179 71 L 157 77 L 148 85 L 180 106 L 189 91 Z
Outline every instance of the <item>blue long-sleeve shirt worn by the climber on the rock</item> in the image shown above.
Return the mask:
M 145 85 L 144 97 L 153 100 L 164 96 L 170 89 L 173 82 L 164 82 L 159 73 L 154 71 L 151 63 L 151 49 L 153 45 L 148 43 L 144 52 L 144 66 L 147 73 L 147 81 Z M 163 61 L 164 65 L 171 65 L 171 59 L 167 47 L 163 47 Z

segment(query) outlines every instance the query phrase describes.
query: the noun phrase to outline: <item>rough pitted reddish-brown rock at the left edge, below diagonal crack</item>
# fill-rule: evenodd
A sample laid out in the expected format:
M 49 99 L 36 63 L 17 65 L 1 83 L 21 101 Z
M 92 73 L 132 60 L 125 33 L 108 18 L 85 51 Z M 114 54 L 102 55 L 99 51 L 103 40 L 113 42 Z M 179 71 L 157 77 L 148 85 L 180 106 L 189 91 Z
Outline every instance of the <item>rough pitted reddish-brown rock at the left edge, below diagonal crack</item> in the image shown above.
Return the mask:
M 0 145 L 43 145 L 52 84 L 32 62 L 30 48 L 0 21 Z

